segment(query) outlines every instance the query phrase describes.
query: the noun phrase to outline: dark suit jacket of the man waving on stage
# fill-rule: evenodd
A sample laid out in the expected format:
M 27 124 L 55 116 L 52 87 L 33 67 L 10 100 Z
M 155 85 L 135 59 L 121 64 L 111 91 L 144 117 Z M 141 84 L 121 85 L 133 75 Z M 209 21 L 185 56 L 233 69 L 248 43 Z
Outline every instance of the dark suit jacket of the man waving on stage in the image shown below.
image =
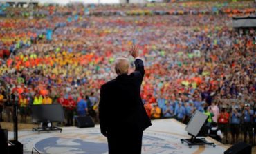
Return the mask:
M 103 84 L 100 89 L 100 129 L 106 131 L 140 130 L 151 126 L 140 97 L 144 77 L 141 59 L 134 61 L 135 71 L 130 75 L 118 75 Z

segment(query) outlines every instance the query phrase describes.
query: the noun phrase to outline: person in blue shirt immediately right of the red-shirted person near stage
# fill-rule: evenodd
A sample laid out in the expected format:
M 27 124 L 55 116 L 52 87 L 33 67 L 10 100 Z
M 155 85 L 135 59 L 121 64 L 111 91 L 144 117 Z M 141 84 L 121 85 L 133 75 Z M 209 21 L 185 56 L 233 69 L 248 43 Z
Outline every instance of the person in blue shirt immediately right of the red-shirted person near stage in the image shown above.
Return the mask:
M 241 124 L 241 110 L 239 108 L 232 108 L 230 113 L 230 131 L 233 143 L 237 143 L 239 137 L 239 127 Z

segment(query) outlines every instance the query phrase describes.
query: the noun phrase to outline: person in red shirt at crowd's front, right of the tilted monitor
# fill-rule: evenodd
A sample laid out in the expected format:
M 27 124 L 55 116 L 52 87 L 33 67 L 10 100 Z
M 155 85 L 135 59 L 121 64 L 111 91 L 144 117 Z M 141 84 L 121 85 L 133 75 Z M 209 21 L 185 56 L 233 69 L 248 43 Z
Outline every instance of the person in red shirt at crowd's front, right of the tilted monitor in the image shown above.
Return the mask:
M 228 123 L 229 123 L 229 114 L 226 108 L 222 108 L 218 118 L 218 126 L 221 132 L 224 133 L 224 136 L 226 137 L 226 142 L 227 142 L 227 136 L 228 136 Z

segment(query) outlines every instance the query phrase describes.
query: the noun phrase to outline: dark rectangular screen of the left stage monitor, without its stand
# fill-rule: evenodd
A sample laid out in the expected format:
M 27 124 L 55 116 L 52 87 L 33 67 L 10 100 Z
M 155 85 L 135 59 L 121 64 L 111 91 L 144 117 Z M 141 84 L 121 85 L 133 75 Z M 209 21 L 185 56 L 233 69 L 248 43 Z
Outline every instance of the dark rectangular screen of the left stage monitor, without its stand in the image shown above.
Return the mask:
M 60 104 L 33 105 L 33 122 L 64 122 L 64 111 Z

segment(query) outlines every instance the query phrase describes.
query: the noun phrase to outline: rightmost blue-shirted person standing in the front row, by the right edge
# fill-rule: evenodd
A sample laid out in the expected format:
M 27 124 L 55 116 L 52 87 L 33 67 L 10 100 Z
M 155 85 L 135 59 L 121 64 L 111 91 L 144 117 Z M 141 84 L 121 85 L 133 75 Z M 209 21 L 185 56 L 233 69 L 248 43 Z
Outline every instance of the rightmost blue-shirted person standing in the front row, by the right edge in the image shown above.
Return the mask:
M 250 104 L 246 104 L 243 111 L 244 119 L 244 142 L 246 142 L 247 134 L 249 135 L 250 144 L 253 144 L 253 110 L 250 109 Z

